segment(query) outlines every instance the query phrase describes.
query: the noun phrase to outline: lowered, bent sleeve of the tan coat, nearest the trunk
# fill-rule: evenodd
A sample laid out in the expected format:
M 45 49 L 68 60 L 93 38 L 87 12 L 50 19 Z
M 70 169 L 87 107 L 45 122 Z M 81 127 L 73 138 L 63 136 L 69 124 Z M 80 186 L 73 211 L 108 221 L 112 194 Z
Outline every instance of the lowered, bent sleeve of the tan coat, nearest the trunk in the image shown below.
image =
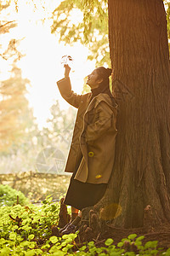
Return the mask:
M 88 124 L 85 131 L 86 142 L 98 139 L 108 129 L 111 128 L 113 122 L 113 111 L 106 102 L 100 102 L 95 108 L 96 120 L 92 124 Z M 115 127 L 116 130 L 116 127 Z

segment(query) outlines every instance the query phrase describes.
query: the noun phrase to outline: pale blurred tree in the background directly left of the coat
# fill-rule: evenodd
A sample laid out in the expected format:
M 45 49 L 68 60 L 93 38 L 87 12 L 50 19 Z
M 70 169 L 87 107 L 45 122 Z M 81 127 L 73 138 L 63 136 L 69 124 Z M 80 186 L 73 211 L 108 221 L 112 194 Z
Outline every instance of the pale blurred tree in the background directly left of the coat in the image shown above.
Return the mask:
M 76 110 L 61 110 L 56 101 L 50 108 L 50 113 L 47 126 L 37 132 L 36 169 L 37 172 L 64 174 Z

